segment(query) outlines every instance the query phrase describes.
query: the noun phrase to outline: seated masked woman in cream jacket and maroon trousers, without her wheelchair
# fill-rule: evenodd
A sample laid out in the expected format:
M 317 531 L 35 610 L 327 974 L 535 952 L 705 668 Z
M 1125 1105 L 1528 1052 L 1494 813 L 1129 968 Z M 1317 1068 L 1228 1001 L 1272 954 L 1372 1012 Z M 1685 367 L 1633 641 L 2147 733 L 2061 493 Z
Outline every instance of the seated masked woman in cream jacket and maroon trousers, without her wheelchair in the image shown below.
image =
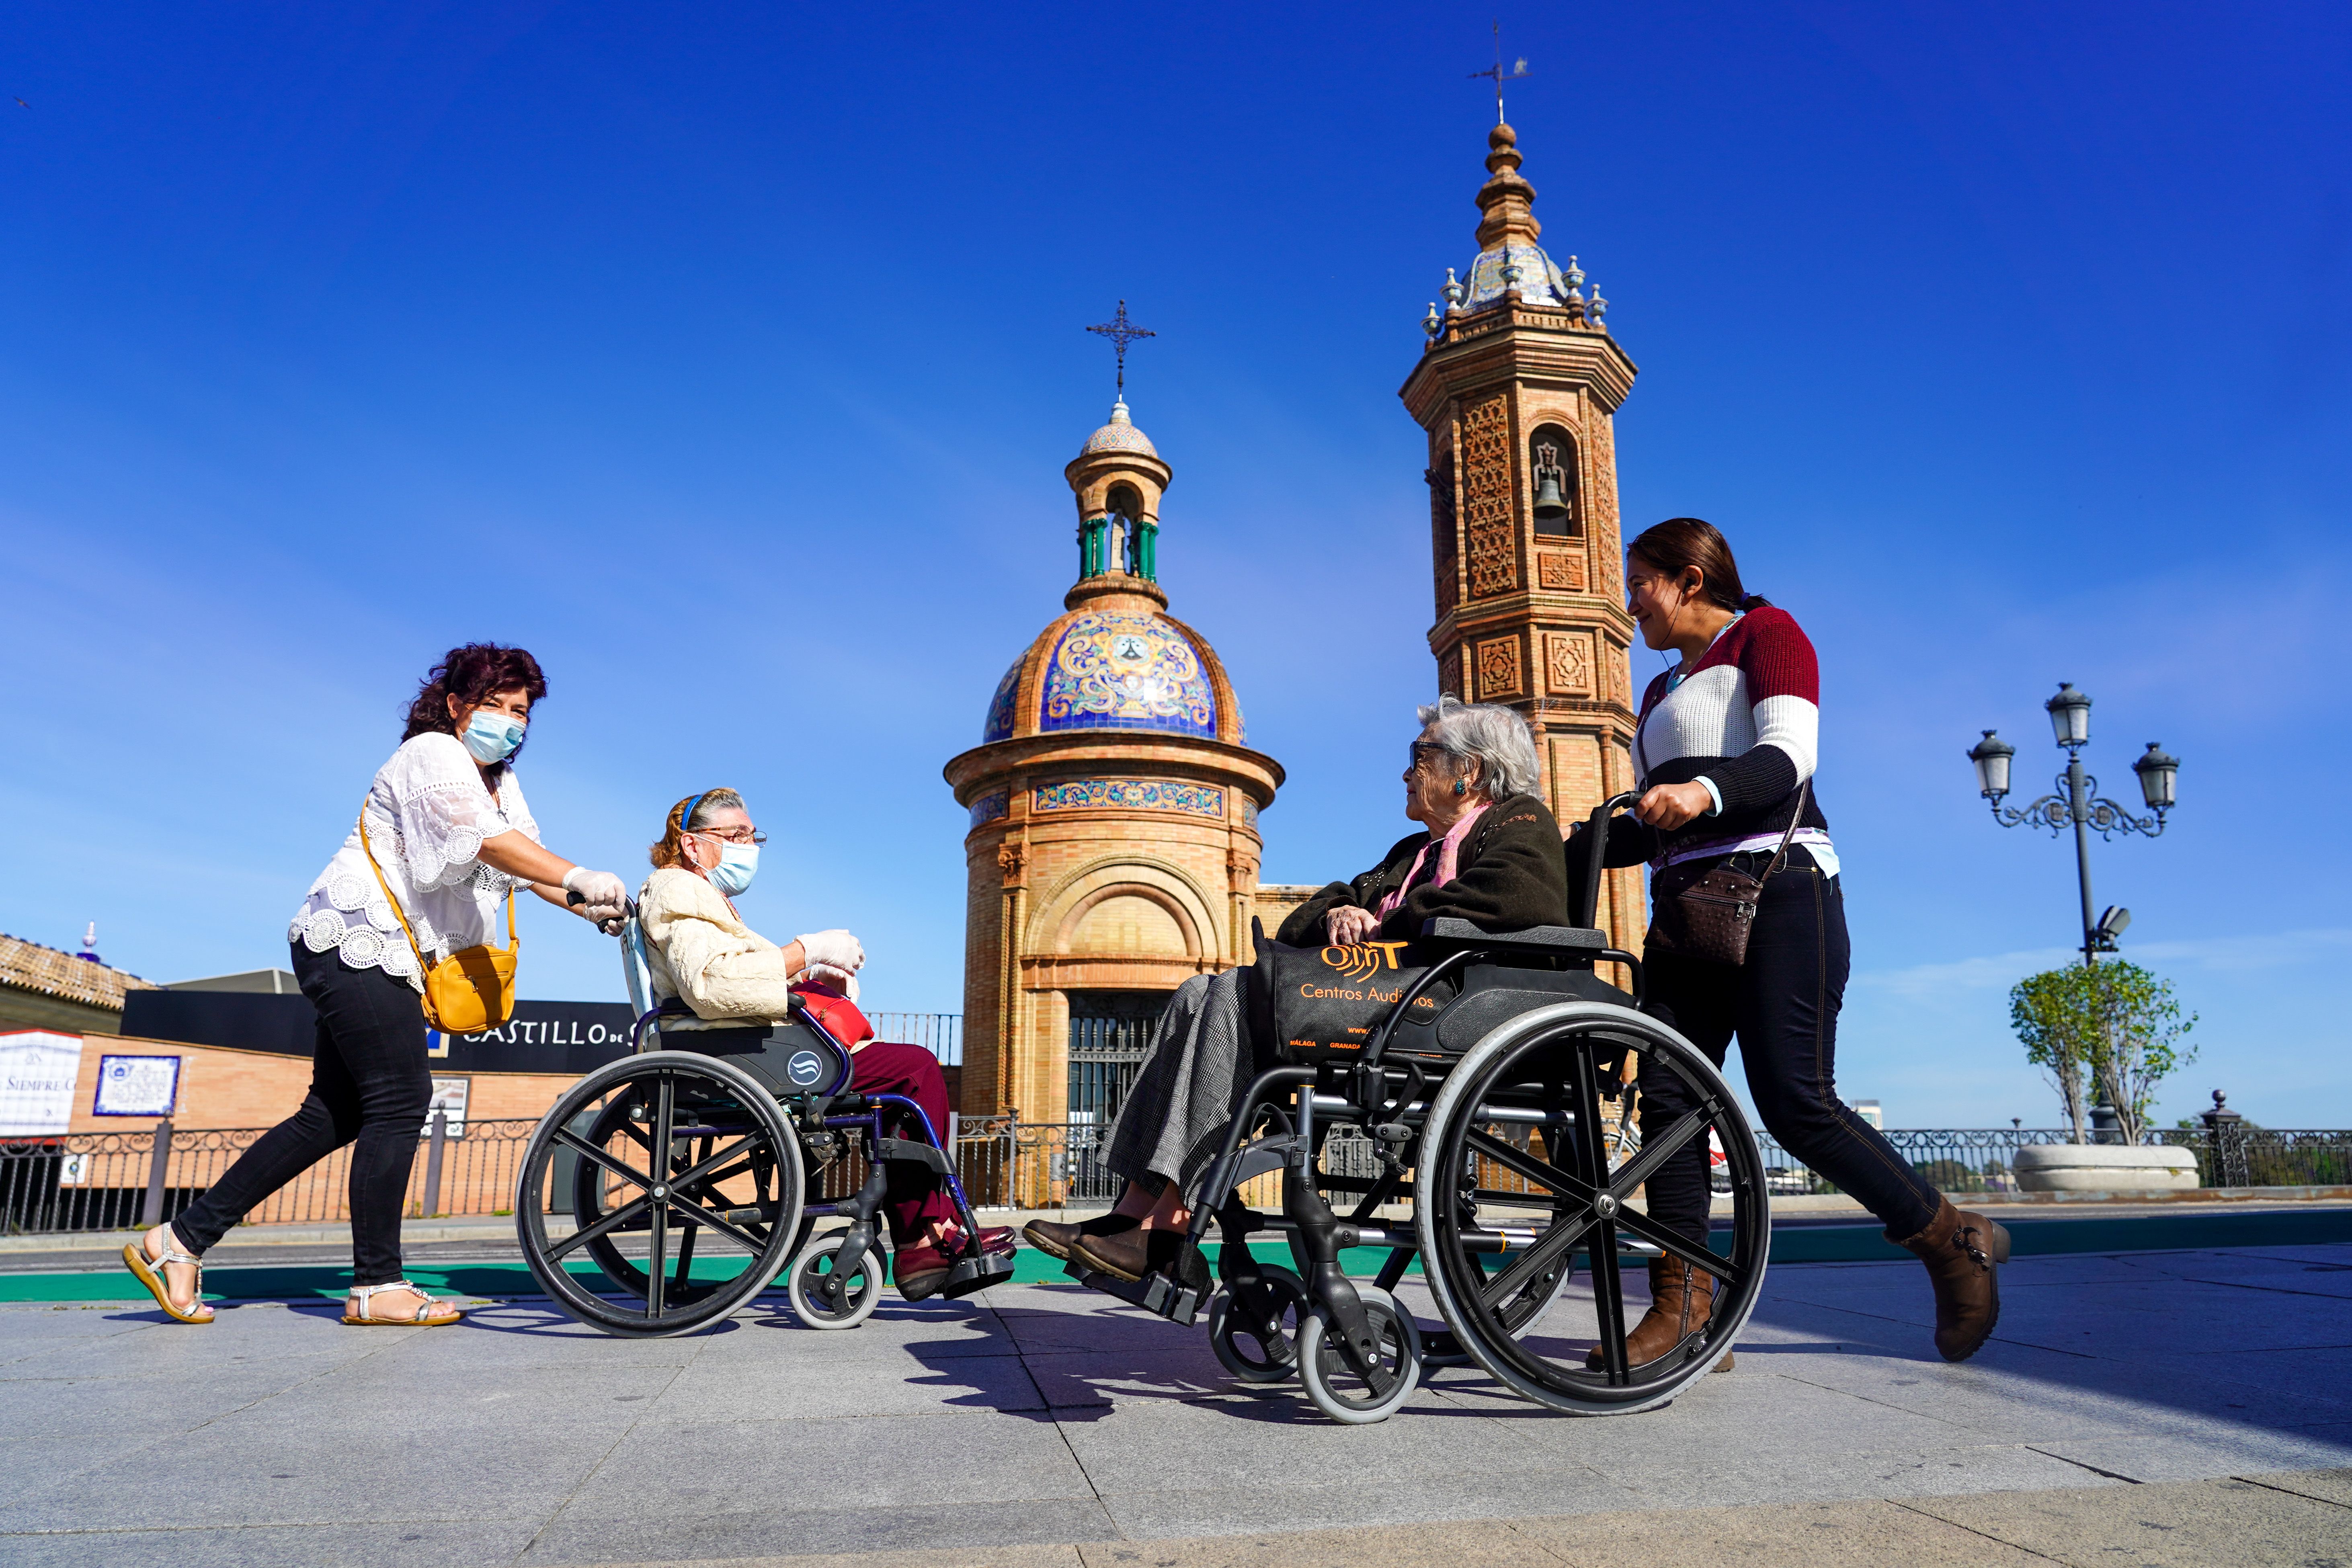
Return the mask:
M 906 1095 L 931 1128 L 948 1126 L 948 1084 L 922 1046 L 877 1041 L 856 1009 L 856 971 L 866 950 L 849 931 L 811 931 L 779 947 L 743 924 L 734 898 L 760 870 L 767 842 L 734 790 L 703 790 L 670 806 L 661 842 L 652 846 L 654 875 L 637 891 L 647 969 L 654 994 L 675 1013 L 663 1034 L 783 1023 L 793 999 L 816 1013 L 849 1046 L 849 1088 L 861 1095 Z M 913 1128 L 906 1128 L 913 1135 Z M 887 1164 L 889 1220 L 898 1293 L 934 1295 L 964 1251 L 955 1201 L 929 1166 Z M 983 1229 L 981 1244 L 1011 1253 L 1009 1229 Z

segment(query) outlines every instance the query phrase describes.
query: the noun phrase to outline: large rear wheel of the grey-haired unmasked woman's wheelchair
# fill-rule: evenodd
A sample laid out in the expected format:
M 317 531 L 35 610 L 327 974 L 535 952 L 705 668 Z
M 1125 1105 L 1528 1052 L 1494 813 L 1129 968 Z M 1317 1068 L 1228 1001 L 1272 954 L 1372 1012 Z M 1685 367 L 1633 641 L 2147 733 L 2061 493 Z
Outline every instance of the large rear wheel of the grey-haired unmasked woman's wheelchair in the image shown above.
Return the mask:
M 1644 1126 L 1639 1152 L 1613 1164 L 1609 1143 L 1585 1131 L 1604 1126 L 1602 1060 L 1628 1046 L 1644 1070 L 1677 1077 L 1693 1110 L 1670 1126 Z M 1534 1114 L 1543 1117 L 1541 1152 L 1505 1135 Z M 1717 1185 L 1729 1178 L 1731 1190 L 1722 1255 L 1630 1206 L 1635 1190 L 1677 1154 L 1684 1161 L 1696 1154 L 1703 1171 L 1710 1133 L 1724 1150 Z M 1498 1185 L 1479 1185 L 1489 1180 L 1482 1173 Z M 1503 1187 L 1505 1175 L 1517 1187 Z M 1764 1161 L 1738 1100 L 1682 1034 L 1606 1001 L 1536 1009 L 1472 1046 L 1430 1103 L 1414 1190 L 1423 1269 L 1446 1326 L 1498 1382 L 1571 1415 L 1630 1415 L 1668 1403 L 1722 1361 L 1764 1288 L 1771 1251 Z M 1531 1234 L 1512 1234 L 1512 1218 L 1496 1215 L 1529 1208 L 1550 1213 Z M 1491 1253 L 1498 1232 L 1501 1255 Z M 1581 1312 L 1545 1309 L 1531 1324 L 1529 1300 L 1557 1300 L 1578 1253 L 1590 1260 L 1590 1331 L 1569 1333 L 1585 1328 L 1576 1321 Z M 1628 1368 L 1625 1335 L 1637 1314 L 1628 1312 L 1623 1269 L 1661 1253 L 1715 1276 L 1715 1314 L 1675 1352 Z M 1595 1340 L 1602 1366 L 1588 1368 Z

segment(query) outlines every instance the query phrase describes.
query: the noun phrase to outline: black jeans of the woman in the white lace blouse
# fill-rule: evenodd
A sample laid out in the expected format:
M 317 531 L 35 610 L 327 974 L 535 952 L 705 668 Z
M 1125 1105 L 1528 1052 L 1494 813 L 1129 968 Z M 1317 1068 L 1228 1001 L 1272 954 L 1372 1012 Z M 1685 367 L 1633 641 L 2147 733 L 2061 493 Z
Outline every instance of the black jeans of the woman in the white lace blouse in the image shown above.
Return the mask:
M 433 1105 L 423 1006 L 407 980 L 350 969 L 334 952 L 310 952 L 303 943 L 294 943 L 294 978 L 318 1009 L 310 1095 L 172 1220 L 172 1232 L 202 1258 L 261 1199 L 355 1143 L 350 1281 L 383 1286 L 400 1279 L 400 1211 L 416 1135 Z

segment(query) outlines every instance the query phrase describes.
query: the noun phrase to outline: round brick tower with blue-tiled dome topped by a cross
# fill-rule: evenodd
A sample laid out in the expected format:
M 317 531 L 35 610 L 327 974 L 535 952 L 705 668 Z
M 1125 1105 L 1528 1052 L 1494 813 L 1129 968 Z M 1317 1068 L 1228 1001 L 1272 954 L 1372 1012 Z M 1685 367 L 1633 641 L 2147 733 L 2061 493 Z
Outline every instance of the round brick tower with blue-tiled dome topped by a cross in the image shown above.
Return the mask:
M 1254 957 L 1258 811 L 1282 764 L 1242 745 L 1216 649 L 1167 614 L 1171 475 L 1124 397 L 1063 477 L 1077 501 L 1065 614 L 997 682 L 981 745 L 946 769 L 971 813 L 962 1110 L 1105 1126 L 1167 992 Z

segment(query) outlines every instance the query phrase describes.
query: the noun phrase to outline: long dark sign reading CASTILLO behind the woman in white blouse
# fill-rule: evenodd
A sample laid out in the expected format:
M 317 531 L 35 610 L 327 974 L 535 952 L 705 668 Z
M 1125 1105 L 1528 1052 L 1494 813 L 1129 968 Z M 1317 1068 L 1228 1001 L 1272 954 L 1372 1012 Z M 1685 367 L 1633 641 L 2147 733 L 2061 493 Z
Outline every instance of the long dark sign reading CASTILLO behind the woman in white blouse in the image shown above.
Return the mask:
M 433 1034 L 435 1072 L 581 1074 L 628 1056 L 635 1018 L 626 1001 L 517 1001 L 515 1016 L 482 1034 Z M 310 1056 L 318 1013 L 306 997 L 259 992 L 132 992 L 122 1032 L 191 1046 Z

